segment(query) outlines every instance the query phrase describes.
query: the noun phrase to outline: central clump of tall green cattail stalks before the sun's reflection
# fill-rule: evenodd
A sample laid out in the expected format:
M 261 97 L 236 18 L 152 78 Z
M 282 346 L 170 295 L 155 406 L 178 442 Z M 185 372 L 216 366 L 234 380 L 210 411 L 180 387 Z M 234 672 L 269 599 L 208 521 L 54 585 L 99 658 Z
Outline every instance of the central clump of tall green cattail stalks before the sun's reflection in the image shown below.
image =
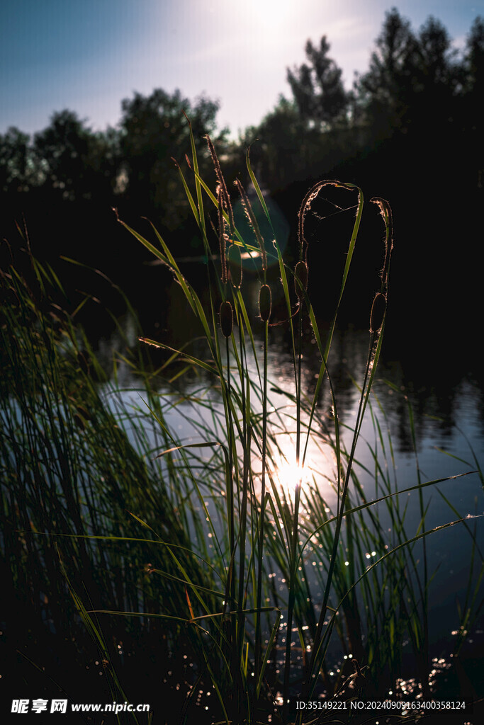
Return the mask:
M 218 236 L 220 265 L 218 272 L 212 270 L 211 273 L 210 289 L 213 289 L 213 293 L 210 292 L 208 310 L 203 308 L 194 287 L 185 278 L 171 250 L 155 227 L 152 226 L 152 230 L 157 244 L 152 244 L 144 236 L 125 226 L 171 270 L 205 332 L 206 357 L 196 358 L 186 351 L 179 351 L 179 357 L 184 362 L 199 366 L 210 373 L 221 389 L 223 439 L 180 445 L 179 450 L 186 451 L 190 447 L 205 445 L 221 451 L 218 460 L 224 488 L 223 497 L 218 499 L 218 516 L 222 522 L 222 530 L 218 530 L 219 558 L 216 559 L 215 566 L 222 585 L 219 595 L 223 596 L 223 604 L 216 611 L 209 610 L 204 597 L 199 595 L 198 601 L 194 602 L 190 610 L 191 617 L 187 622 L 197 626 L 202 623 L 210 633 L 210 646 L 204 655 L 205 666 L 218 695 L 222 720 L 227 723 L 242 720 L 253 723 L 263 717 L 261 713 L 266 712 L 267 717 L 271 705 L 276 702 L 282 703 L 279 713 L 282 721 L 289 722 L 295 718 L 297 723 L 302 722 L 303 713 L 295 713 L 294 703 L 291 708 L 291 697 L 294 700 L 295 695 L 293 678 L 301 676 L 301 668 L 294 666 L 296 647 L 300 647 L 303 653 L 303 674 L 299 685 L 301 700 L 311 700 L 316 688 L 320 687 L 320 675 L 329 692 L 334 693 L 337 689 L 343 691 L 344 684 L 332 682 L 325 668 L 329 641 L 334 629 L 339 632 L 348 656 L 353 658 L 358 687 L 366 687 L 368 695 L 377 691 L 377 683 L 381 687 L 383 673 L 388 687 L 395 682 L 401 666 L 403 632 L 408 632 L 415 656 L 420 663 L 419 676 L 427 694 L 427 589 L 430 574 L 426 563 L 423 574 L 420 573 L 415 546 L 420 541 L 425 546 L 427 535 L 432 533 L 425 530 L 422 489 L 435 484 L 435 481 L 422 480 L 417 462 L 417 478 L 411 490 L 417 491 L 419 495 L 421 520 L 415 527 L 409 526 L 406 521 L 406 511 L 401 510 L 398 491 L 392 485 L 389 474 L 382 470 L 376 448 L 374 500 L 367 500 L 364 487 L 356 473 L 357 444 L 364 415 L 370 405 L 370 392 L 385 327 L 393 249 L 390 206 L 384 199 L 372 199 L 380 210 L 384 225 L 382 273 L 380 289 L 375 290 L 373 305 L 369 310 L 368 355 L 361 381 L 357 381 L 360 398 L 356 423 L 347 442 L 348 436 L 345 438 L 340 430 L 338 401 L 332 388 L 327 361 L 331 355 L 333 334 L 361 223 L 364 204 L 361 189 L 352 184 L 323 181 L 308 192 L 299 212 L 299 257 L 295 268 L 290 268 L 279 252 L 271 218 L 250 166 L 248 153 L 247 171 L 257 201 L 261 204 L 263 214 L 266 215 L 274 234 L 274 241 L 271 240 L 273 244 L 266 245 L 262 239 L 252 205 L 239 182 L 237 188 L 253 230 L 253 239 L 248 241 L 242 238 L 234 227 L 231 200 L 210 139 L 208 146 L 216 169 L 215 193 L 210 191 L 198 174 L 194 144 L 192 159 L 189 161 L 191 181 L 186 180 L 179 167 L 181 182 L 199 226 L 208 258 L 210 242 L 204 204 L 208 202 L 216 210 L 213 229 Z M 194 192 L 191 191 L 190 183 L 194 185 Z M 316 197 L 328 187 L 335 187 L 348 192 L 348 195 L 356 196 L 356 214 L 345 253 L 335 314 L 329 330 L 323 336 L 308 297 L 308 276 L 313 272 L 308 268 L 305 218 Z M 246 256 L 259 260 L 257 269 L 261 287 L 256 317 L 253 310 L 247 307 L 241 291 L 242 271 L 237 268 L 241 263 L 241 251 Z M 276 261 L 278 279 L 268 277 L 268 257 L 273 257 Z M 231 260 L 231 263 L 227 260 Z M 295 426 L 291 444 L 293 450 L 287 444 L 282 445 L 279 442 L 281 426 L 284 434 L 287 434 L 287 421 L 281 422 L 279 411 L 271 408 L 268 400 L 268 347 L 270 328 L 274 324 L 271 310 L 274 286 L 282 288 L 286 310 L 285 322 L 282 322 L 288 328 L 292 345 L 294 388 L 288 398 Z M 290 291 L 292 287 L 294 292 Z M 305 320 L 311 323 L 321 358 L 319 376 L 313 390 L 303 390 L 302 385 Z M 279 325 L 280 322 L 276 324 Z M 262 338 L 262 354 L 256 342 L 257 330 Z M 144 339 L 144 342 L 162 349 L 167 348 L 163 341 Z M 169 352 L 177 354 L 171 349 Z M 253 357 L 257 370 L 255 379 L 247 363 L 249 357 Z M 318 401 L 325 387 L 332 404 L 333 415 L 330 421 L 321 416 L 318 409 Z M 371 414 L 378 431 L 377 445 L 380 444 L 385 452 L 380 423 L 373 411 Z M 410 427 L 414 431 L 411 420 Z M 206 434 L 209 438 L 213 436 L 208 430 Z M 316 481 L 311 485 L 306 480 L 305 465 L 310 442 L 316 442 L 319 447 L 329 450 L 334 460 L 334 478 L 330 481 L 336 494 L 334 512 L 329 510 L 322 493 L 324 489 Z M 387 445 L 390 444 L 387 442 Z M 282 493 L 278 480 L 278 466 L 280 467 L 280 461 L 284 459 L 293 461 L 298 471 L 290 497 Z M 308 492 L 303 491 L 305 487 Z M 372 507 L 378 500 L 387 507 L 393 524 L 396 539 L 391 550 L 388 550 L 387 535 L 379 517 L 372 512 Z M 211 521 L 210 516 L 209 519 Z M 454 523 L 456 521 L 445 526 L 452 526 Z M 213 529 L 216 527 L 213 526 Z M 315 542 L 318 542 L 316 550 L 313 545 Z M 316 563 L 321 565 L 316 568 L 316 572 L 320 577 L 322 600 L 314 597 L 305 574 L 308 549 L 313 552 Z M 380 552 L 380 558 L 372 566 L 367 566 L 367 552 L 374 550 Z M 274 597 L 274 592 L 271 595 L 268 582 L 272 564 L 268 566 L 269 562 L 275 563 L 284 574 L 287 598 L 279 595 Z M 282 638 L 282 642 L 285 639 L 285 653 L 282 682 L 279 682 L 278 677 L 271 681 L 267 668 L 268 663 L 276 656 L 276 642 L 281 632 L 285 632 L 285 638 Z M 295 638 L 293 633 L 296 634 Z M 375 642 L 379 643 L 378 647 Z M 217 676 L 213 676 L 216 671 Z M 349 679 L 354 685 L 355 676 Z M 274 713 L 271 716 L 275 717 Z

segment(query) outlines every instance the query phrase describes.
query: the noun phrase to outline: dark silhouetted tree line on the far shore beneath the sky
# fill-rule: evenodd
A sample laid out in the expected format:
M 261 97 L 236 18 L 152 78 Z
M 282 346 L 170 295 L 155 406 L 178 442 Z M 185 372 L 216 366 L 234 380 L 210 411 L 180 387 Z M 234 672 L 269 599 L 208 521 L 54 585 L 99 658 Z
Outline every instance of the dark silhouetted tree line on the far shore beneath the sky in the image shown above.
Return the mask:
M 100 267 L 116 257 L 126 266 L 134 250 L 123 246 L 128 242 L 114 224 L 111 209 L 118 207 L 128 222 L 138 225 L 144 215 L 173 233 L 180 253 L 201 251 L 173 163 L 184 166 L 189 152 L 186 113 L 201 174 L 209 181 L 215 175 L 207 133 L 229 182 L 243 170 L 250 146 L 261 185 L 292 221 L 312 180 L 353 181 L 390 199 L 403 228 L 418 230 L 417 236 L 406 235 L 402 274 L 415 263 L 417 247 L 418 265 L 433 265 L 435 275 L 468 274 L 459 272 L 461 262 L 446 268 L 442 254 L 435 254 L 435 238 L 440 226 L 467 234 L 482 199 L 483 18 L 476 18 L 457 51 L 439 20 L 429 17 L 414 30 L 393 8 L 368 70 L 351 89 L 343 85 L 326 36 L 308 40 L 305 56 L 302 65 L 287 69 L 290 96 L 280 96 L 237 141 L 218 128 L 217 101 L 160 88 L 124 99 L 118 125 L 104 131 L 92 130 L 69 109 L 54 112 L 33 136 L 9 128 L 0 136 L 4 236 L 12 220 L 25 215 L 41 256 L 66 254 Z

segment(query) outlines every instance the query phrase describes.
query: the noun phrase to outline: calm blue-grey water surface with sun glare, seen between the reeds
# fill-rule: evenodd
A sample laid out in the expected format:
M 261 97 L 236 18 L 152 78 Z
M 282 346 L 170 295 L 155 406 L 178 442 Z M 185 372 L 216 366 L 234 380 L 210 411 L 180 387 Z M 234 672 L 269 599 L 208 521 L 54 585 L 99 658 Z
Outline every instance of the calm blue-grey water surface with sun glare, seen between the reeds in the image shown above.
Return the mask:
M 153 270 L 155 273 L 155 270 Z M 150 290 L 145 310 L 140 310 L 141 328 L 144 336 L 165 342 L 175 348 L 192 341 L 187 349 L 192 355 L 205 359 L 207 349 L 200 339 L 201 331 L 192 322 L 192 315 L 186 310 L 186 304 L 178 286 L 165 286 L 147 283 Z M 157 299 L 152 290 L 161 289 Z M 163 291 L 164 290 L 164 291 Z M 203 290 L 199 289 L 203 297 Z M 258 330 L 257 299 L 258 283 L 248 281 L 245 284 L 245 299 L 250 313 L 253 313 L 255 344 L 258 357 L 262 353 L 262 330 Z M 206 300 L 205 300 L 206 301 Z M 277 300 L 276 300 L 277 305 Z M 276 306 L 277 310 L 277 306 Z M 394 315 L 394 319 L 398 315 Z M 414 329 L 404 326 L 396 329 L 391 326 L 389 315 L 385 344 L 377 370 L 377 379 L 372 393 L 371 409 L 367 410 L 361 429 L 361 438 L 356 450 L 356 472 L 364 488 L 367 500 L 386 493 L 379 486 L 375 489 L 374 451 L 384 471 L 390 472 L 393 489 L 406 489 L 418 483 L 417 467 L 421 481 L 448 479 L 458 474 L 475 471 L 477 462 L 484 465 L 484 396 L 480 364 L 464 352 L 464 341 L 459 344 L 455 334 L 449 347 L 446 335 L 440 335 L 431 326 L 418 336 Z M 396 325 L 396 323 L 395 323 Z M 136 329 L 132 320 L 125 318 L 123 326 L 131 344 L 136 340 Z M 327 329 L 324 321 L 320 324 L 321 334 Z M 429 332 L 430 331 L 430 332 Z M 431 332 L 433 334 L 431 334 Z M 450 338 L 449 338 L 450 339 Z M 468 340 L 467 340 L 468 342 Z M 358 409 L 357 385 L 363 381 L 369 334 L 365 330 L 346 324 L 335 333 L 332 353 L 329 359 L 329 371 L 335 389 L 337 415 L 343 430 L 343 441 L 350 445 L 352 428 Z M 248 343 L 247 343 L 248 344 Z M 122 348 L 123 343 L 115 337 L 106 336 L 99 344 L 99 350 L 107 359 L 112 356 L 113 348 Z M 270 352 L 268 355 L 268 378 L 271 417 L 277 421 L 279 442 L 283 454 L 293 460 L 295 450 L 295 408 L 285 393 L 294 391 L 294 372 L 292 354 L 287 339 L 287 326 L 275 327 L 270 334 Z M 469 347 L 467 347 L 467 350 Z M 457 354 L 457 352 L 460 354 Z M 160 360 L 162 358 L 160 357 Z M 247 360 L 252 381 L 258 380 L 258 371 L 254 360 Z M 305 331 L 303 345 L 303 389 L 311 397 L 317 376 L 320 359 L 313 343 L 311 331 Z M 175 368 L 173 373 L 179 368 Z M 138 381 L 131 375 L 128 367 L 118 368 L 118 381 L 123 387 L 121 394 L 123 405 L 133 405 L 136 410 L 145 407 L 136 391 Z M 224 439 L 223 410 L 220 394 L 213 379 L 201 372 L 198 376 L 186 373 L 177 378 L 173 385 L 160 384 L 160 395 L 165 407 L 165 420 L 171 428 L 173 437 L 179 444 L 201 442 L 206 439 L 207 429 L 213 436 Z M 181 397 L 184 402 L 176 405 Z M 218 411 L 215 417 L 207 407 L 190 402 L 190 397 L 198 397 L 210 402 L 210 408 Z M 116 408 L 116 395 L 110 395 L 110 405 Z M 411 436 L 409 421 L 410 404 L 416 436 L 416 450 Z M 255 405 L 257 407 L 257 405 Z M 260 404 L 259 404 L 260 407 Z M 318 415 L 325 424 L 331 426 L 332 401 L 327 386 L 318 401 Z M 149 421 L 149 418 L 147 418 Z M 377 426 L 381 430 L 381 439 Z M 147 423 L 148 434 L 152 436 L 151 423 Z M 315 423 L 316 432 L 321 431 L 320 423 Z M 160 443 L 152 437 L 154 449 L 159 450 Z M 324 445 L 308 447 L 308 467 L 314 484 L 327 501 L 328 508 L 335 505 L 336 495 L 330 485 L 335 480 L 335 463 L 332 450 Z M 253 471 L 261 470 L 261 461 L 255 455 Z M 286 470 L 281 476 L 281 485 L 290 495 L 293 480 L 292 473 Z M 445 497 L 445 498 L 444 498 Z M 356 500 L 353 492 L 353 500 Z M 408 537 L 417 534 L 421 518 L 417 492 L 402 494 L 398 497 L 401 507 L 406 508 L 406 533 Z M 455 521 L 458 518 L 481 515 L 484 511 L 483 487 L 480 477 L 473 473 L 456 479 L 449 479 L 428 486 L 423 490 L 423 502 L 426 508 L 425 529 Z M 208 493 L 205 503 L 212 512 L 214 502 Z M 387 545 L 390 549 L 398 543 L 392 522 L 380 503 L 374 507 L 380 523 L 387 530 Z M 484 552 L 484 518 L 471 518 L 468 526 L 475 532 L 478 550 L 475 552 L 475 564 L 470 580 L 472 592 L 478 581 Z M 432 581 L 429 587 L 430 610 L 430 654 L 434 666 L 445 676 L 449 657 L 457 641 L 459 625 L 459 606 L 464 604 L 469 584 L 470 562 L 472 558 L 472 537 L 464 526 L 457 524 L 426 537 L 427 565 Z M 377 560 L 384 551 L 369 551 L 369 563 Z M 422 575 L 422 542 L 416 544 L 414 555 L 419 559 L 418 570 Z M 282 597 L 287 596 L 287 584 L 282 573 L 274 569 L 276 590 Z M 317 602 L 321 598 L 321 586 L 316 576 L 311 578 L 311 594 Z M 483 600 L 483 587 L 475 592 L 473 610 L 479 608 Z M 475 657 L 482 651 L 484 642 L 484 618 L 482 612 L 475 620 L 463 653 Z M 404 643 L 403 652 L 411 652 L 409 642 Z M 334 667 L 342 666 L 343 655 L 340 645 L 334 642 L 330 651 Z M 281 656 L 282 653 L 281 653 Z M 477 655 L 480 657 L 480 654 Z M 403 676 L 409 681 L 407 692 L 411 692 L 413 664 L 409 660 Z

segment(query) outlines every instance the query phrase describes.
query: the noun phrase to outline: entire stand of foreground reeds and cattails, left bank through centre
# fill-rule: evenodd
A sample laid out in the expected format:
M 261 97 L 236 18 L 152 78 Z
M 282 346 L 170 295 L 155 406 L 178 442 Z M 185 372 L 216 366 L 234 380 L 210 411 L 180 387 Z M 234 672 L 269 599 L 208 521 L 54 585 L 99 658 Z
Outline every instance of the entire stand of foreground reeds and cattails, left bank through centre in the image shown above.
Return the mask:
M 144 365 L 142 355 L 123 357 L 138 376 L 136 404 L 120 397 L 115 384 L 107 386 L 74 324 L 75 314 L 68 317 L 54 307 L 50 290 L 59 284 L 52 270 L 32 260 L 30 284 L 12 265 L 3 273 L 9 374 L 0 399 L 6 431 L 0 451 L 7 521 L 2 547 L 10 584 L 30 592 L 39 631 L 45 619 L 69 631 L 78 613 L 104 660 L 114 699 L 124 699 L 126 690 L 116 674 L 126 670 L 116 666 L 112 639 L 122 631 L 133 651 L 141 643 L 151 656 L 153 642 L 160 642 L 165 659 L 172 662 L 179 653 L 179 682 L 172 692 L 181 687 L 181 699 L 167 722 L 202 722 L 205 710 L 197 705 L 201 692 L 210 692 L 207 721 L 301 725 L 305 712 L 295 709 L 296 699 L 308 702 L 323 692 L 329 700 L 371 698 L 394 688 L 404 636 L 427 687 L 432 573 L 426 563 L 423 571 L 419 566 L 418 547 L 434 531 L 456 523 L 471 537 L 465 629 L 479 608 L 483 557 L 473 524 L 456 510 L 451 522 L 426 530 L 424 490 L 448 479 L 424 481 L 417 460 L 414 484 L 398 489 L 384 414 L 371 395 L 390 285 L 389 204 L 372 199 L 382 218 L 382 273 L 369 305 L 368 352 L 355 381 L 358 406 L 349 428 L 340 421 L 330 360 L 363 214 L 361 189 L 322 181 L 308 192 L 298 218 L 298 258 L 289 266 L 249 154 L 253 201 L 240 183 L 237 191 L 253 230 L 250 240 L 234 225 L 210 139 L 208 148 L 214 191 L 200 178 L 193 138 L 188 172 L 178 167 L 208 260 L 210 238 L 218 244 L 218 263 L 206 267 L 208 305 L 155 225 L 150 241 L 120 220 L 171 270 L 204 339 L 195 352 L 190 345 L 173 349 L 140 334 L 148 349 L 162 351 L 163 363 L 156 370 Z M 335 313 L 322 331 L 308 293 L 319 272 L 309 266 L 305 222 L 317 197 L 331 190 L 347 196 L 356 212 Z M 273 239 L 263 239 L 255 204 Z M 242 256 L 256 262 L 257 310 L 245 298 Z M 278 389 L 268 377 L 276 326 L 284 326 L 290 339 L 290 390 Z M 303 385 L 307 326 L 320 360 L 313 389 Z M 159 390 L 160 373 L 173 365 L 179 365 L 173 382 L 187 370 L 200 370 L 202 384 L 176 394 L 165 381 Z M 329 403 L 330 415 L 321 399 Z M 195 409 L 202 418 L 191 412 Z M 189 442 L 171 428 L 174 410 L 189 418 Z M 372 422 L 372 442 L 362 439 L 365 415 Z M 417 451 L 411 409 L 409 415 Z M 359 459 L 362 446 L 368 447 L 371 470 Z M 324 470 L 323 460 L 329 461 Z M 289 489 L 282 481 L 287 468 Z M 371 499 L 362 477 L 373 481 Z M 417 523 L 402 502 L 409 492 L 419 497 Z M 276 575 L 282 589 L 275 586 Z M 334 634 L 346 663 L 337 672 L 330 668 Z M 154 660 L 158 666 L 163 656 Z M 130 692 L 126 697 L 134 699 Z

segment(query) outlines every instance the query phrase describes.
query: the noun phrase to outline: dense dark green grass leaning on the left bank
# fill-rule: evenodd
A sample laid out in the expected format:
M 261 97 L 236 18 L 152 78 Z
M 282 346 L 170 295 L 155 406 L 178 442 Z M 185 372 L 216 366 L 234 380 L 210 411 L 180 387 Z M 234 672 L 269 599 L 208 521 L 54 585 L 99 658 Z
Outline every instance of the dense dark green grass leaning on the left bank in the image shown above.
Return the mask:
M 171 441 L 157 397 L 143 386 L 155 430 L 139 405 L 107 381 L 74 324 L 77 310 L 63 310 L 52 270 L 33 257 L 26 265 L 9 260 L 1 295 L 0 541 L 9 677 L 18 668 L 20 684 L 30 683 L 38 695 L 53 687 L 79 702 L 86 692 L 104 692 L 102 673 L 112 699 L 124 700 L 113 663 L 133 647 L 150 656 L 160 633 L 136 618 L 111 623 L 104 637 L 86 608 L 186 607 L 184 590 L 174 584 L 179 568 L 192 569 L 194 585 L 204 583 L 202 569 L 187 564 L 193 522 L 183 502 L 194 471 L 175 472 L 169 456 L 163 468 L 153 460 L 153 445 Z M 141 359 L 125 362 L 141 370 Z M 155 569 L 163 579 L 152 575 Z M 95 648 L 82 621 L 96 633 Z M 168 668 L 176 637 L 179 628 L 168 622 L 155 647 L 167 653 Z

